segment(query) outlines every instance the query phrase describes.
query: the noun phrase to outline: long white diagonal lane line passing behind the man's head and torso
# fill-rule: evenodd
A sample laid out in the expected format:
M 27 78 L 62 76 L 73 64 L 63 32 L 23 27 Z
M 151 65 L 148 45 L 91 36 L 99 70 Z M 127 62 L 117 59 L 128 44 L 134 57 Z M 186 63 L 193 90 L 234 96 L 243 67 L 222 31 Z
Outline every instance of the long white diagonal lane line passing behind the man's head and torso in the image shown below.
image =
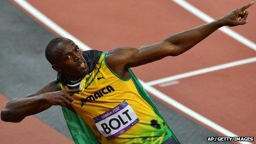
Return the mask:
M 14 0 L 14 1 L 16 3 L 18 3 L 21 7 L 23 7 L 25 10 L 27 10 L 35 18 L 39 19 L 43 24 L 45 24 L 46 26 L 49 26 L 49 28 L 54 30 L 57 34 L 59 34 L 61 36 L 65 36 L 66 38 L 72 39 L 72 40 L 74 40 L 76 42 L 78 41 L 77 45 L 79 45 L 79 47 L 81 47 L 81 49 L 83 49 L 83 50 L 90 50 L 91 49 L 90 47 L 88 47 L 85 44 L 83 44 L 83 42 L 79 41 L 74 36 L 72 36 L 70 33 L 68 33 L 67 31 L 63 30 L 60 26 L 58 26 L 57 24 L 52 22 L 52 20 L 50 20 L 49 18 L 46 18 L 45 15 L 43 15 L 41 12 L 39 12 L 39 10 L 37 10 L 33 6 L 31 6 L 31 4 L 29 4 L 28 2 L 26 2 L 24 0 Z M 220 125 L 217 125 L 215 122 L 212 122 L 211 120 L 205 118 L 204 116 L 202 116 L 202 115 L 196 113 L 195 111 L 187 108 L 186 106 L 180 104 L 176 100 L 174 100 L 172 98 L 169 98 L 166 94 L 163 94 L 159 90 L 157 90 L 157 89 L 147 85 L 145 82 L 143 82 L 141 80 L 140 80 L 140 82 L 142 83 L 143 87 L 148 92 L 154 94 L 157 98 L 164 100 L 164 102 L 174 106 L 178 110 L 183 111 L 183 113 L 188 114 L 192 118 L 202 122 L 202 124 L 205 124 L 205 125 L 211 127 L 212 129 L 220 132 L 223 135 L 226 135 L 226 136 L 237 136 L 233 132 L 228 131 L 227 129 L 221 127 Z

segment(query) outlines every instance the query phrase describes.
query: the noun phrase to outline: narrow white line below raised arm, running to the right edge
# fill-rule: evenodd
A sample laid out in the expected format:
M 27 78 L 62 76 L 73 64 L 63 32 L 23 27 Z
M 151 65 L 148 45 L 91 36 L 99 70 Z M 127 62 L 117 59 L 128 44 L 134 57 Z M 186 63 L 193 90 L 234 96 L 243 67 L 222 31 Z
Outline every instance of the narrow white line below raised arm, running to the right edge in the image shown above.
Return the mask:
M 181 73 L 181 74 L 177 74 L 177 75 L 174 75 L 174 76 L 169 76 L 169 77 L 165 77 L 165 78 L 161 78 L 161 79 L 156 79 L 154 81 L 147 82 L 147 84 L 150 85 L 150 86 L 153 86 L 153 85 L 156 85 L 156 84 L 166 83 L 166 82 L 174 81 L 174 80 L 177 80 L 177 79 L 192 77 L 192 76 L 196 76 L 196 75 L 199 75 L 199 74 L 218 71 L 218 70 L 222 70 L 222 69 L 225 69 L 225 68 L 244 65 L 244 64 L 252 63 L 252 62 L 256 62 L 256 57 L 246 58 L 244 60 L 233 61 L 233 62 L 229 62 L 229 63 L 224 63 L 222 65 L 202 68 L 202 69 L 196 70 L 196 71 L 191 71 L 191 72 Z

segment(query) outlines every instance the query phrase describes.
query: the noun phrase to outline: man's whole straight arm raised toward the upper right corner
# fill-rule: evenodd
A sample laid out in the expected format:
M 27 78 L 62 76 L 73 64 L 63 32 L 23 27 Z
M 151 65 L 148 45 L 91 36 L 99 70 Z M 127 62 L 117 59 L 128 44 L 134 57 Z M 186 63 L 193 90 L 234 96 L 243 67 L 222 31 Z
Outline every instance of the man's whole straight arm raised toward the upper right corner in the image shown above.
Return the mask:
M 178 56 L 191 49 L 222 26 L 236 26 L 246 24 L 248 12 L 246 9 L 252 6 L 249 3 L 239 9 L 233 10 L 214 22 L 198 26 L 196 28 L 173 34 L 161 42 L 151 45 L 132 47 L 120 47 L 113 49 L 106 56 L 106 62 L 120 76 L 124 75 L 129 67 L 140 66 L 149 62 L 160 60 L 166 56 Z

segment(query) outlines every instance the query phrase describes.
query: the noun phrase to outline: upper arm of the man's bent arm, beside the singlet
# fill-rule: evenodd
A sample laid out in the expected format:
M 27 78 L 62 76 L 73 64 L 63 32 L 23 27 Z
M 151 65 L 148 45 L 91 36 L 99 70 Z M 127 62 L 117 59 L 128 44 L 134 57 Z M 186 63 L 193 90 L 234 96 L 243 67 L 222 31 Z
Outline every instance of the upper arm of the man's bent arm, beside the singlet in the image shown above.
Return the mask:
M 56 92 L 58 90 L 61 90 L 58 86 L 58 81 L 50 81 L 45 86 L 42 86 L 36 93 L 26 95 L 26 98 L 28 97 L 34 97 L 35 95 L 43 94 L 43 93 L 50 93 L 50 92 Z

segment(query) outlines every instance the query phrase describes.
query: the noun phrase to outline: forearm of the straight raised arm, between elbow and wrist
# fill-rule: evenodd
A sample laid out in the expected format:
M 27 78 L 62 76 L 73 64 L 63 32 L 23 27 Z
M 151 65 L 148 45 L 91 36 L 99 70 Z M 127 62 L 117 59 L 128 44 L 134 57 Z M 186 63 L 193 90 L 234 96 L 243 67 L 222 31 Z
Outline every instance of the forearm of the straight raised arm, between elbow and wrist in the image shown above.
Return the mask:
M 223 25 L 223 22 L 220 19 L 217 19 L 214 22 L 198 26 L 194 29 L 171 35 L 164 41 L 169 42 L 175 47 L 172 55 L 180 55 L 183 52 L 191 49 L 200 41 L 204 40 L 207 36 L 212 34 L 218 28 L 221 28 Z

